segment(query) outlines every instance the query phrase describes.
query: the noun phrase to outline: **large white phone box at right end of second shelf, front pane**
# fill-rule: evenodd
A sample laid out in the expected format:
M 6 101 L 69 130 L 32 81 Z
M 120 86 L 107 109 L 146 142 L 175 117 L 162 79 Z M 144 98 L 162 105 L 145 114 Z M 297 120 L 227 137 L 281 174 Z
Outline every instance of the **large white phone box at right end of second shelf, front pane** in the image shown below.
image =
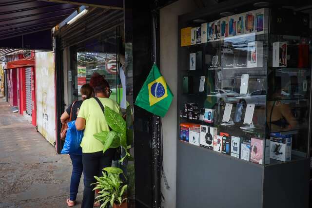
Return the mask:
M 247 44 L 247 67 L 262 67 L 263 66 L 263 42 L 254 41 Z

